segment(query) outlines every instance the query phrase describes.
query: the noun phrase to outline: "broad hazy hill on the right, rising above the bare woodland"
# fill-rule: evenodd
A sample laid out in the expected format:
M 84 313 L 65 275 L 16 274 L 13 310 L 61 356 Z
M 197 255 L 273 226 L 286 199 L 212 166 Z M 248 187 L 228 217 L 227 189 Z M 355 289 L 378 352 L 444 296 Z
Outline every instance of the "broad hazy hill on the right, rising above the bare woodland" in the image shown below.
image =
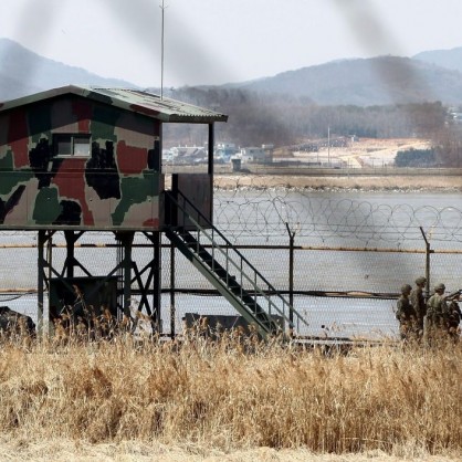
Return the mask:
M 462 104 L 461 72 L 399 56 L 334 61 L 239 86 L 304 96 L 319 105 Z

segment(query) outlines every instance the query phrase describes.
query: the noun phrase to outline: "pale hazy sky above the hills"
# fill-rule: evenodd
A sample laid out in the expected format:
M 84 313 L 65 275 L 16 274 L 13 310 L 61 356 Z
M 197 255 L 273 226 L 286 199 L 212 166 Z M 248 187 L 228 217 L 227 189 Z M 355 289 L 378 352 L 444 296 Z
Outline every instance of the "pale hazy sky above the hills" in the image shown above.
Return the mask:
M 0 36 L 160 85 L 162 0 L 0 0 Z M 462 0 L 164 0 L 164 84 L 241 82 L 346 57 L 462 46 Z

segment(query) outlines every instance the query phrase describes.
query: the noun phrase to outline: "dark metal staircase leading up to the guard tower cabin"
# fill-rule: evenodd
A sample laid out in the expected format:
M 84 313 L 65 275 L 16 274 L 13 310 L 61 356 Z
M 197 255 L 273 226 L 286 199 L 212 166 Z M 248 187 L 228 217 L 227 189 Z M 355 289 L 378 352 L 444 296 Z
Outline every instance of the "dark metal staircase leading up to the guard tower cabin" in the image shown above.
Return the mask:
M 263 338 L 296 335 L 306 321 L 180 191 L 166 191 L 166 237 Z

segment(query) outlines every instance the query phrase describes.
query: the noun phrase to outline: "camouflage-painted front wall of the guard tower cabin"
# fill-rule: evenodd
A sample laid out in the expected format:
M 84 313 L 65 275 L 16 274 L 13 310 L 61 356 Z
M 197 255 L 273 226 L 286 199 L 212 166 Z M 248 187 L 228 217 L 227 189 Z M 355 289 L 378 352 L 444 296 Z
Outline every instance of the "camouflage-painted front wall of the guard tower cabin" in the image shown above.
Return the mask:
M 90 134 L 90 156 L 59 155 L 57 134 Z M 158 120 L 76 95 L 4 112 L 0 229 L 158 229 Z

